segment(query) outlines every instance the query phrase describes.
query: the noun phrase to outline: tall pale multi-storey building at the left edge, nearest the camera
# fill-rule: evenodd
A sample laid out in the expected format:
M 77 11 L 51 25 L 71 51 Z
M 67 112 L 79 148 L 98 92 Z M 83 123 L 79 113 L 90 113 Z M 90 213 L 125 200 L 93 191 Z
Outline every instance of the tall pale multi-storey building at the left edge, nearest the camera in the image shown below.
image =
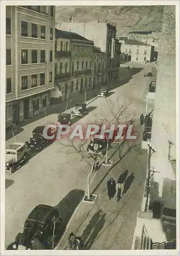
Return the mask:
M 6 127 L 49 107 L 54 48 L 54 6 L 6 7 Z

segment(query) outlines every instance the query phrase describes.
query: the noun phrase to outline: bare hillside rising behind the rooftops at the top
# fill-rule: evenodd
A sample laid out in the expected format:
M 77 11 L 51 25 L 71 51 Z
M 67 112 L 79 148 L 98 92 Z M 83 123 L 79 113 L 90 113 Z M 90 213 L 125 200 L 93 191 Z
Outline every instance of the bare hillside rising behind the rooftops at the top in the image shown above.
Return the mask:
M 163 6 L 56 6 L 56 25 L 69 22 L 109 22 L 117 35 L 134 30 L 161 31 Z

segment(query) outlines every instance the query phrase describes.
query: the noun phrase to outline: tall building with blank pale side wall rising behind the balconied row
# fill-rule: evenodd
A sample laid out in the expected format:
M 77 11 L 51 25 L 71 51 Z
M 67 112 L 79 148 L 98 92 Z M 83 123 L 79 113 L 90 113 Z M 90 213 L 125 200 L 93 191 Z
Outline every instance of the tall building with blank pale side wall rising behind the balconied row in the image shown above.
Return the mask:
M 107 55 L 106 67 L 108 80 L 119 76 L 120 44 L 118 39 L 116 39 L 116 26 L 107 22 L 100 23 L 99 20 L 89 23 L 76 23 L 70 18 L 70 22 L 60 23 L 60 28 L 61 30 L 75 32 L 89 40 L 93 40 L 95 46 Z M 109 63 L 111 62 L 114 62 L 114 66 L 109 67 Z

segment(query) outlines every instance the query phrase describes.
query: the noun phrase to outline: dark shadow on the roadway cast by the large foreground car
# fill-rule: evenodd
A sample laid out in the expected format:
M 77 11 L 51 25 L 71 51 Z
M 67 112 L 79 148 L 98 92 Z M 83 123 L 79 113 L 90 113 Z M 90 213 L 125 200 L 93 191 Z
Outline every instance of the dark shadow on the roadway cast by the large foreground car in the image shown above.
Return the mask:
M 55 206 L 65 226 L 68 224 L 83 196 L 83 190 L 73 189 Z

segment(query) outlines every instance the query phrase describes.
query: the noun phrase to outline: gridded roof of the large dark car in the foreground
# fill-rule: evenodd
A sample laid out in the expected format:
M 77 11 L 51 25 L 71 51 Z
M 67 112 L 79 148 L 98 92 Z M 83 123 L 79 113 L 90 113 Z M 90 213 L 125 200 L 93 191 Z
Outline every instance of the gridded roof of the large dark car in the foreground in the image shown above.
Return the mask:
M 33 220 L 43 223 L 51 214 L 52 210 L 55 210 L 53 206 L 39 204 L 30 212 L 27 220 Z

